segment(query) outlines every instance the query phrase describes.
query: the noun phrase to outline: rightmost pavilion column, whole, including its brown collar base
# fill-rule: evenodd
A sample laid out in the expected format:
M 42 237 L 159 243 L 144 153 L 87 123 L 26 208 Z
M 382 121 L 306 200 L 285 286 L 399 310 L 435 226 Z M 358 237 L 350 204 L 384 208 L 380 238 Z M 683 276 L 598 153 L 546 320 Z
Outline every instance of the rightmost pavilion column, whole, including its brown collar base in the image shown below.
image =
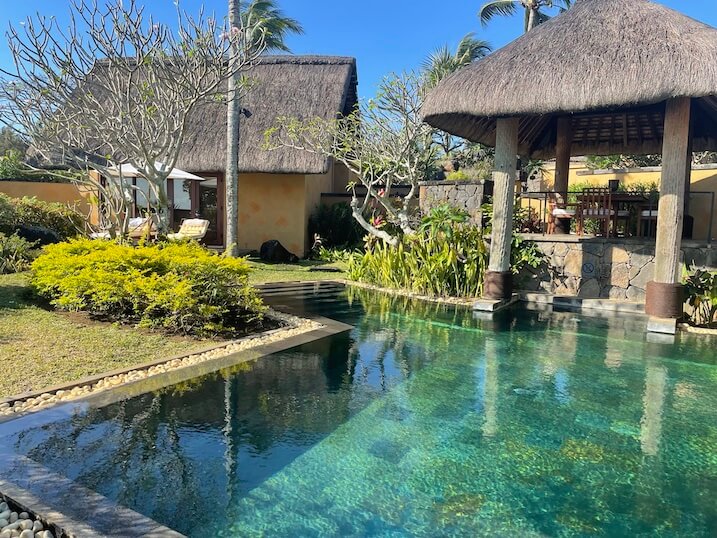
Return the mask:
M 665 108 L 655 279 L 647 284 L 645 301 L 645 312 L 656 318 L 677 319 L 683 313 L 680 248 L 690 162 L 690 106 L 689 97 L 678 97 L 667 101 Z

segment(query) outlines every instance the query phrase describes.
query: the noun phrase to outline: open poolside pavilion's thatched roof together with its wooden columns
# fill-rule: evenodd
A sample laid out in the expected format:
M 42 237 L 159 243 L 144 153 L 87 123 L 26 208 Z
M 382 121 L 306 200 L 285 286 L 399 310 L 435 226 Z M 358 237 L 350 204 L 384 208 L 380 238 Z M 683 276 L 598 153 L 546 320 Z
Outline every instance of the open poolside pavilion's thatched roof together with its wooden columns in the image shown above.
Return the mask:
M 650 0 L 577 0 L 428 96 L 428 123 L 496 147 L 486 293 L 510 296 L 516 155 L 663 154 L 656 270 L 646 311 L 682 313 L 680 245 L 692 151 L 717 150 L 717 30 Z M 663 324 L 664 326 L 664 324 Z

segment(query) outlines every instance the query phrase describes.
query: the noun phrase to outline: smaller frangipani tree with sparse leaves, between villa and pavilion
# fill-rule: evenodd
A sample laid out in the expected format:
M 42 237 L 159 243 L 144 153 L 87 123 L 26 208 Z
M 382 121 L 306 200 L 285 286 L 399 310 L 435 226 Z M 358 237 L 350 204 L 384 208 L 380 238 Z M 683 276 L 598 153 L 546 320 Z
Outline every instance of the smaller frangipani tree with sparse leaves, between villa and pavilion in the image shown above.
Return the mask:
M 398 238 L 367 218 L 367 213 L 378 206 L 404 234 L 415 233 L 411 208 L 418 182 L 430 177 L 439 151 L 435 130 L 421 119 L 425 94 L 425 80 L 419 75 L 388 77 L 375 99 L 348 116 L 309 121 L 277 118 L 276 126 L 266 133 L 267 148 L 310 151 L 346 166 L 356 178 L 349 185 L 354 218 L 370 234 L 396 245 Z M 398 201 L 397 186 L 409 188 Z

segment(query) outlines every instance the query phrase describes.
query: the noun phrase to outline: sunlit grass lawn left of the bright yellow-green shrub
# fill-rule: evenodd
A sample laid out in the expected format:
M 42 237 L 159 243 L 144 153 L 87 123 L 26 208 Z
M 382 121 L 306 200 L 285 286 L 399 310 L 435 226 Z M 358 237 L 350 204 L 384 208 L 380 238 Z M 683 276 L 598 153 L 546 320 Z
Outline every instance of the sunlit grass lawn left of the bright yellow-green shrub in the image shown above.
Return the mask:
M 26 275 L 0 275 L 0 397 L 209 345 L 46 310 L 33 300 Z

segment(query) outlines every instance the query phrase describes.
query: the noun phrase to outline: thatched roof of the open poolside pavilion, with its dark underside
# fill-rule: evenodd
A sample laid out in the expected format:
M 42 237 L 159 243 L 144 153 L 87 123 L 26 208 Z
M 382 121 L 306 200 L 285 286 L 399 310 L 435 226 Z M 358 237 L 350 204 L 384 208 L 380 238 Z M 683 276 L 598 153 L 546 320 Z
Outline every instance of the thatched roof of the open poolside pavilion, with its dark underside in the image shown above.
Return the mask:
M 692 97 L 695 151 L 717 149 L 717 30 L 650 0 L 578 0 L 463 68 L 428 96 L 428 123 L 495 144 L 520 116 L 520 153 L 554 156 L 558 116 L 573 154 L 659 153 L 664 102 Z

